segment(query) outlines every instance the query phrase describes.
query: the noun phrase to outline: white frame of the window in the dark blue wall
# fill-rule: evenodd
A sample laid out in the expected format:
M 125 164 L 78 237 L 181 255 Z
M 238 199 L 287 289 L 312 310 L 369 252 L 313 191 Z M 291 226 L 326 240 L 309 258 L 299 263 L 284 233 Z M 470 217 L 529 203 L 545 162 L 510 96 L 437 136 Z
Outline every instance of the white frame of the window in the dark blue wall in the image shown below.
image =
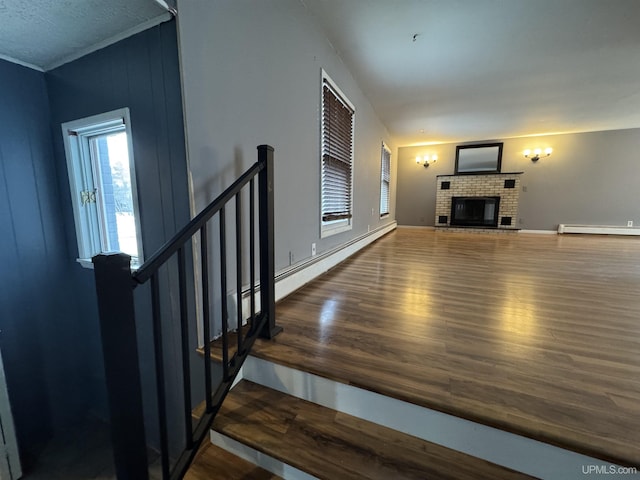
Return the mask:
M 105 133 L 117 131 L 126 132 L 129 154 L 129 175 L 131 179 L 131 194 L 138 246 L 138 256 L 131 257 L 131 266 L 132 268 L 140 266 L 143 262 L 144 254 L 142 249 L 140 208 L 129 108 L 120 108 L 110 112 L 65 122 L 61 128 L 67 161 L 76 240 L 78 243 L 78 258 L 76 261 L 85 268 L 93 268 L 92 258 L 95 255 L 107 252 L 106 249 L 102 248 L 104 230 L 100 229 L 102 219 L 100 218 L 101 215 L 98 210 L 104 207 L 102 206 L 103 202 L 100 202 L 100 205 L 98 205 L 99 199 L 102 199 L 102 192 L 96 192 L 96 182 L 98 181 L 97 178 L 100 173 L 94 171 L 95 169 L 91 159 L 91 150 L 93 148 L 91 139 Z M 95 208 L 86 208 L 86 206 L 82 204 L 81 192 L 83 191 L 96 192 L 94 195 L 96 199 Z

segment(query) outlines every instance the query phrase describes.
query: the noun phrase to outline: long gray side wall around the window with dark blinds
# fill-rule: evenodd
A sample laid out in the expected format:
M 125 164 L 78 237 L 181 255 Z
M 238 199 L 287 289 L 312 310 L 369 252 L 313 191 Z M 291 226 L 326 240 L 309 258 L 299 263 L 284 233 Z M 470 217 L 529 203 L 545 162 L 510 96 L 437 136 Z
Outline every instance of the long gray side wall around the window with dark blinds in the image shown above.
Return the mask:
M 394 144 L 298 0 L 192 0 L 179 36 L 189 165 L 198 212 L 275 148 L 276 270 L 395 218 Z M 353 230 L 320 239 L 321 68 L 356 107 Z M 380 147 L 392 148 L 391 215 L 379 218 Z M 373 209 L 373 213 L 372 213 Z

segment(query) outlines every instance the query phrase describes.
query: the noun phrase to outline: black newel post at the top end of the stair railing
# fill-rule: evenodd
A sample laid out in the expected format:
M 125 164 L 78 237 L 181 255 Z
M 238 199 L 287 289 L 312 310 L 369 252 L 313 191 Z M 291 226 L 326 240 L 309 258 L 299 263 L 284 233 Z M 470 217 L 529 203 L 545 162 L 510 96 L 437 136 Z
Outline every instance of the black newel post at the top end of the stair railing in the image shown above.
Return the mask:
M 273 147 L 258 147 L 258 162 L 265 168 L 258 174 L 258 204 L 260 206 L 260 309 L 267 323 L 260 332 L 262 338 L 273 338 L 282 331 L 276 326 L 276 289 L 273 215 Z

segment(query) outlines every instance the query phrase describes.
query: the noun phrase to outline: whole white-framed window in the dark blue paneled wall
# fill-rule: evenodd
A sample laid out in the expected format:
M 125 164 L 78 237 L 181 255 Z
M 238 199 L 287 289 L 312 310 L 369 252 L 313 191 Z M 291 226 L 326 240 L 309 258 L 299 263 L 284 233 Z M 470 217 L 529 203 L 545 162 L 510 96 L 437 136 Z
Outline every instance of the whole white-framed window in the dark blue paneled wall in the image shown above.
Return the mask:
M 63 123 L 78 261 L 91 268 L 100 253 L 124 252 L 142 262 L 129 109 Z

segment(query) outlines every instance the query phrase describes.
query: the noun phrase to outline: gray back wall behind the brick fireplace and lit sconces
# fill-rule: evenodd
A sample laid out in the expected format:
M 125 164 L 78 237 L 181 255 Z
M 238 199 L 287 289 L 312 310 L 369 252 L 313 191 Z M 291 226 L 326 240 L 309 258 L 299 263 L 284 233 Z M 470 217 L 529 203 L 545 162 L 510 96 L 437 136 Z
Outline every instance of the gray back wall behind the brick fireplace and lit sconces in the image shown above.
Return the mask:
M 482 140 L 482 139 L 481 139 Z M 491 140 L 494 141 L 494 140 Z M 500 141 L 500 140 L 497 140 Z M 553 148 L 537 163 L 527 148 Z M 398 150 L 397 219 L 400 225 L 434 225 L 436 175 L 452 175 L 456 144 Z M 503 172 L 524 172 L 518 226 L 555 230 L 559 223 L 640 225 L 640 129 L 504 140 Z M 417 155 L 437 153 L 425 169 Z

